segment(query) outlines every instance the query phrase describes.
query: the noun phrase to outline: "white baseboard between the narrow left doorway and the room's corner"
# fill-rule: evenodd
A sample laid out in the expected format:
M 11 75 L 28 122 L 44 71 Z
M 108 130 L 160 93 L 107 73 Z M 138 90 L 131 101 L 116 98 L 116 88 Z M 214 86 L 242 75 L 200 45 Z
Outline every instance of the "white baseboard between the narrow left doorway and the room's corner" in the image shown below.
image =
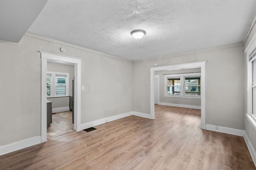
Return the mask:
M 81 130 L 87 129 L 89 127 L 101 125 L 101 124 L 107 123 L 109 121 L 114 121 L 114 120 L 117 120 L 117 119 L 121 119 L 123 117 L 127 117 L 127 116 L 130 116 L 130 115 L 132 115 L 132 111 L 127 112 L 127 113 L 122 113 L 122 114 L 119 114 L 119 115 L 115 115 L 115 116 L 111 116 L 111 117 L 106 117 L 104 119 L 99 119 L 99 120 L 96 120 L 96 121 L 91 121 L 91 122 L 88 122 L 88 123 L 84 123 L 84 124 L 81 124 Z

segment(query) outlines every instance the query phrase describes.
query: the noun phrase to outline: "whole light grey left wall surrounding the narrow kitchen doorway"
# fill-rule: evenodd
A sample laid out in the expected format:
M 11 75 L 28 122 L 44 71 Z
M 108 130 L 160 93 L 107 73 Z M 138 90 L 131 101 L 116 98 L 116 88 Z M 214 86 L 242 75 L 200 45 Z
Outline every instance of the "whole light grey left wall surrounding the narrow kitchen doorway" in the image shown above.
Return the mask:
M 40 136 L 38 51 L 82 58 L 81 123 L 132 111 L 130 61 L 30 33 L 18 45 L 0 42 L 0 51 L 0 146 Z

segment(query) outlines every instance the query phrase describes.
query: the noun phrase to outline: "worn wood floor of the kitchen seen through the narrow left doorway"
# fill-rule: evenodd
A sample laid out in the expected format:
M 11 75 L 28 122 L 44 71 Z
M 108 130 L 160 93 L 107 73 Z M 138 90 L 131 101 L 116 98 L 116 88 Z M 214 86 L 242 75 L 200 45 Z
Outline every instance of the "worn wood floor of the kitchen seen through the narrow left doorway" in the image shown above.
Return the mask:
M 47 139 L 74 131 L 72 111 L 62 111 L 52 114 L 52 123 L 47 128 Z

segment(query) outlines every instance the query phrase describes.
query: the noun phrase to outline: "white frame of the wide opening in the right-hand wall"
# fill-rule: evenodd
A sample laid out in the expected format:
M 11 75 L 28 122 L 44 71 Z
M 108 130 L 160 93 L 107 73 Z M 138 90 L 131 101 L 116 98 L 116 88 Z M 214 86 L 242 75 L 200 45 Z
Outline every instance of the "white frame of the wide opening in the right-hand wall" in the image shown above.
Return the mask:
M 205 65 L 207 61 L 150 67 L 150 119 L 155 118 L 154 78 L 155 71 L 201 68 L 201 129 L 206 129 L 205 120 Z

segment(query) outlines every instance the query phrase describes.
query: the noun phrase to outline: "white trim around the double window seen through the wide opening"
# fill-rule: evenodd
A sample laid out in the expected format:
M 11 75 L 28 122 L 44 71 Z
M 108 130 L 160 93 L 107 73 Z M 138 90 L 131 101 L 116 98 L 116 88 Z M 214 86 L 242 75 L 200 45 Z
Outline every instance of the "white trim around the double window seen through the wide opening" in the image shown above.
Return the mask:
M 165 74 L 164 75 L 164 97 L 169 98 L 192 98 L 192 99 L 200 99 L 201 95 L 186 95 L 185 94 L 185 78 L 188 77 L 200 77 L 201 72 L 196 73 L 181 73 L 181 74 Z M 180 78 L 180 95 L 176 94 L 167 94 L 167 79 L 168 78 Z M 200 84 L 201 87 L 201 84 Z

